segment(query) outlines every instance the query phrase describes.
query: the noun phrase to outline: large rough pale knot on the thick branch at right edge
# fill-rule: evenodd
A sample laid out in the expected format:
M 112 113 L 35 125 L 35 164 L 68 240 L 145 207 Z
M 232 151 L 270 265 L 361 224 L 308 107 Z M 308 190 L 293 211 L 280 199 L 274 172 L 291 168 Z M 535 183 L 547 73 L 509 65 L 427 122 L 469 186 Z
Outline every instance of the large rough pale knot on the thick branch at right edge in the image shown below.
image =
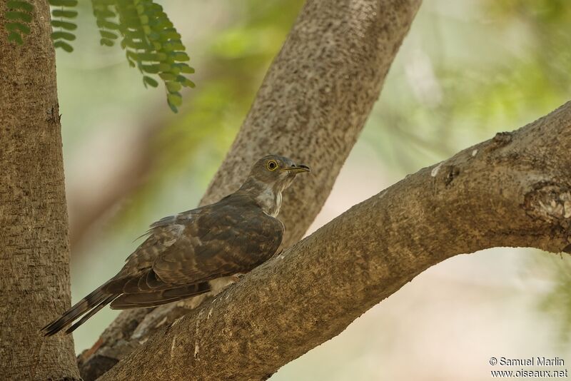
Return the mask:
M 530 217 L 557 222 L 562 228 L 571 225 L 571 189 L 556 183 L 537 183 L 525 195 L 525 212 Z

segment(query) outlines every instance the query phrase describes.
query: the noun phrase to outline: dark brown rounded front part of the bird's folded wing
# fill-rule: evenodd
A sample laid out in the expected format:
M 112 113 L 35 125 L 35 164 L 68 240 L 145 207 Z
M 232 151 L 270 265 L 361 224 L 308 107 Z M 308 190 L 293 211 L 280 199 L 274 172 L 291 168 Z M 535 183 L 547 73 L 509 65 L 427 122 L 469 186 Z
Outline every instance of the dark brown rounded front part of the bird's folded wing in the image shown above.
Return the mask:
M 282 237 L 283 224 L 251 200 L 225 199 L 188 221 L 153 271 L 179 285 L 247 273 L 276 252 Z

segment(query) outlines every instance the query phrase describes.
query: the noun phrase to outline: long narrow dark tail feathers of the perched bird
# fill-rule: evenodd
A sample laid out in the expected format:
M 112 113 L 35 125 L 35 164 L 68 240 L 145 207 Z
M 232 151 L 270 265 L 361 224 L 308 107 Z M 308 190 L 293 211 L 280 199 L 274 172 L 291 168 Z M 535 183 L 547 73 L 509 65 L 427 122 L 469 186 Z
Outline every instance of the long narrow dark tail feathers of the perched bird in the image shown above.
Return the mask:
M 94 290 L 93 293 L 87 295 L 85 298 L 76 303 L 76 305 L 67 310 L 64 315 L 61 315 L 61 317 L 43 327 L 41 331 L 44 332 L 44 336 L 55 335 L 57 332 L 70 325 L 71 322 L 74 322 L 74 320 L 76 320 L 78 317 L 86 314 L 84 317 L 81 317 L 81 320 L 66 330 L 66 333 L 73 332 L 77 327 L 86 322 L 89 317 L 93 316 L 98 310 L 101 310 L 101 308 L 108 305 L 108 303 L 111 303 L 111 301 L 115 299 L 117 295 L 109 295 L 103 291 L 104 286 L 105 285 L 102 285 L 100 288 Z

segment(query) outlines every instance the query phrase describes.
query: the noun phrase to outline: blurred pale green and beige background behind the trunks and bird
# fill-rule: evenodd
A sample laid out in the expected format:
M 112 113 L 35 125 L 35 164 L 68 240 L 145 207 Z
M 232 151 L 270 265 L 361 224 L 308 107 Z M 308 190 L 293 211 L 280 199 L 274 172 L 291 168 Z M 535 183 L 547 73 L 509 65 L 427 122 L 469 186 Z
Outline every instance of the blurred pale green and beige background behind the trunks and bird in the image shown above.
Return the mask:
M 303 5 L 159 2 L 196 68 L 197 86 L 176 115 L 160 87 L 143 88 L 121 49 L 98 46 L 89 2 L 79 4 L 76 50 L 58 51 L 74 303 L 121 268 L 151 222 L 197 205 Z M 570 5 L 425 0 L 310 231 L 406 174 L 568 101 Z M 567 255 L 531 249 L 459 255 L 271 380 L 483 380 L 496 369 L 492 356 L 558 356 L 571 367 L 570 269 Z M 76 350 L 116 314 L 106 308 L 77 330 Z

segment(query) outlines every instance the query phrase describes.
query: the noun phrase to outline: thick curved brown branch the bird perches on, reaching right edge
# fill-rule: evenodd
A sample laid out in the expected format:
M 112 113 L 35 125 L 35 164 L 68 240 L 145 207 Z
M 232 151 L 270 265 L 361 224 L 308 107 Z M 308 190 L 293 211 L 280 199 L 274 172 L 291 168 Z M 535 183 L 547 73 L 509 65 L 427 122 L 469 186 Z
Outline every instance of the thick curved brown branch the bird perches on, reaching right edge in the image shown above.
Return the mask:
M 571 102 L 423 168 L 163 327 L 102 380 L 260 380 L 453 255 L 570 251 L 570 150 Z

